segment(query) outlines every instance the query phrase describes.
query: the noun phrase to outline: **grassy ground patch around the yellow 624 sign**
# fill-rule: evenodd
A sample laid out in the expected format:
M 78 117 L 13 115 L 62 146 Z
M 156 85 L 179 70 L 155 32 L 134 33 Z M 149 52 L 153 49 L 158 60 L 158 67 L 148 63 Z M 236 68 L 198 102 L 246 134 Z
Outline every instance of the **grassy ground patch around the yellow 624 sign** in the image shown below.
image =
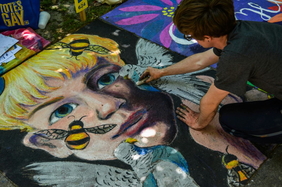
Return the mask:
M 85 9 L 86 21 L 81 22 L 79 13 L 76 13 L 73 0 L 57 0 L 53 4 L 51 0 L 40 0 L 40 11 L 49 12 L 51 17 L 58 17 L 58 20 L 50 22 L 44 30 L 36 30 L 39 35 L 55 43 L 66 35 L 89 24 L 103 14 L 113 10 L 118 4 L 94 6 L 93 0 L 87 0 L 88 8 Z M 60 20 L 59 17 L 62 19 Z

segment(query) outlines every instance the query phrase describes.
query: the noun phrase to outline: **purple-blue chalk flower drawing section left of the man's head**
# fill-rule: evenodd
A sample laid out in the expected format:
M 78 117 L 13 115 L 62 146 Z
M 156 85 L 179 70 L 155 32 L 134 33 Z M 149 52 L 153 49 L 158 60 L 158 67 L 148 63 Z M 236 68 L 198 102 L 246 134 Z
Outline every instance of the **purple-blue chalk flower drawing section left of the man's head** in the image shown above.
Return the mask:
M 181 0 L 129 0 L 102 18 L 182 55 L 202 52 L 204 49 L 195 40 L 183 39 L 183 34 L 172 22 L 180 2 Z M 192 48 L 187 46 L 191 44 Z

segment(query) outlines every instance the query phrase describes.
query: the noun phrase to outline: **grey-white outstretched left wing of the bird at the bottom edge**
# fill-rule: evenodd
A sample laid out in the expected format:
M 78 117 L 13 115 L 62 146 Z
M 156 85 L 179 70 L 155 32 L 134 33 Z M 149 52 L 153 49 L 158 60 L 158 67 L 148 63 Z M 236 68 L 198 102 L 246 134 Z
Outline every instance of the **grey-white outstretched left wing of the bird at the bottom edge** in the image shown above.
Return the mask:
M 141 187 L 136 174 L 107 165 L 81 162 L 43 162 L 27 166 L 40 186 L 131 186 Z

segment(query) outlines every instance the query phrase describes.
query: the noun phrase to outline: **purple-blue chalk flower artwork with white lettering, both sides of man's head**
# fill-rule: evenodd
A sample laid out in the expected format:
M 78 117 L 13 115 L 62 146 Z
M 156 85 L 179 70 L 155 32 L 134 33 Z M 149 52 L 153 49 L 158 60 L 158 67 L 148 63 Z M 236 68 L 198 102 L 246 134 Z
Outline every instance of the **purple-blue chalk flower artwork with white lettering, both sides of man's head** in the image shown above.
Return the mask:
M 184 56 L 206 49 L 183 38 L 172 22 L 181 0 L 128 0 L 101 18 Z M 282 24 L 281 0 L 234 0 L 237 19 Z M 214 65 L 213 67 L 216 67 Z

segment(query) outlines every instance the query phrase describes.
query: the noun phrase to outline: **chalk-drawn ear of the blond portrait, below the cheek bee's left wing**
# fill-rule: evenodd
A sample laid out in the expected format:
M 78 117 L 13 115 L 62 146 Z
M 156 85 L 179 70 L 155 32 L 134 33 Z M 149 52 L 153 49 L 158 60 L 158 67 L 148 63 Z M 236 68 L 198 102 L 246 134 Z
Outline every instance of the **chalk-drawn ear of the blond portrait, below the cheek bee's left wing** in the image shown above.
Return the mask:
M 72 150 L 67 148 L 64 139 L 46 139 L 33 134 L 35 132 L 36 131 L 27 133 L 23 139 L 25 146 L 45 150 L 49 154 L 59 158 L 65 158 L 73 154 Z

